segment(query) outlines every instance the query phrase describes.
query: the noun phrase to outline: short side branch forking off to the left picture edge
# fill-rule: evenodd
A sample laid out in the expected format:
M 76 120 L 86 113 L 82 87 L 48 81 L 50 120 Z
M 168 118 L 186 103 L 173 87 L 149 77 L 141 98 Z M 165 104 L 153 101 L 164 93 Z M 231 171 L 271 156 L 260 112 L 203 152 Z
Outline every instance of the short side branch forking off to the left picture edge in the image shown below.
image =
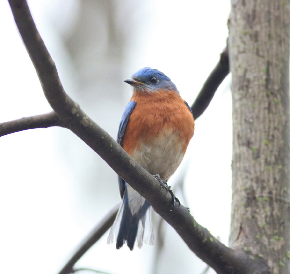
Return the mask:
M 54 111 L 0 123 L 0 137 L 22 130 L 32 128 L 48 128 L 51 126 L 64 126 Z

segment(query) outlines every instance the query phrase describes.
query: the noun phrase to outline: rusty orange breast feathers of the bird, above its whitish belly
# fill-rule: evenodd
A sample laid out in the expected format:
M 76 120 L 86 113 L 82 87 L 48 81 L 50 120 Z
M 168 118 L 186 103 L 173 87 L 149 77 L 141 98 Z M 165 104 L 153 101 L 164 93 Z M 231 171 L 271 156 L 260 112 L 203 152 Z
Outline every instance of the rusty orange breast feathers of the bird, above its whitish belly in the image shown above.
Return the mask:
M 128 122 L 123 148 L 129 154 L 141 144 L 150 144 L 160 132 L 179 134 L 185 153 L 194 132 L 193 116 L 179 94 L 172 91 L 135 92 L 135 109 Z

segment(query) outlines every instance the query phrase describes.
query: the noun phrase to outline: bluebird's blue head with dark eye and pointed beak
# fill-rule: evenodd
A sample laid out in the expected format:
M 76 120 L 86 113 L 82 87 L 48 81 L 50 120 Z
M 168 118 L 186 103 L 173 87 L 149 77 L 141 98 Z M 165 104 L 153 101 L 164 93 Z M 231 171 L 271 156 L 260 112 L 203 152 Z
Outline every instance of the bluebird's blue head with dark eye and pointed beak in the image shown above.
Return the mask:
M 176 86 L 163 72 L 150 67 L 144 67 L 132 75 L 132 78 L 124 80 L 134 87 L 134 90 L 141 92 L 166 92 L 178 93 Z

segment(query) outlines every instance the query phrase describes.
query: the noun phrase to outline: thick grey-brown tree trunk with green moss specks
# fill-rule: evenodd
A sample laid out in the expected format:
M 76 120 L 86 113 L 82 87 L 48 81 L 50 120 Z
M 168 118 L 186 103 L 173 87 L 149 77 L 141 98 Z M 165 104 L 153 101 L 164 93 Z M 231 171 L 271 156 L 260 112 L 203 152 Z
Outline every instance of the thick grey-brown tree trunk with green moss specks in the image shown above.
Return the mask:
M 232 0 L 230 246 L 290 273 L 289 1 Z

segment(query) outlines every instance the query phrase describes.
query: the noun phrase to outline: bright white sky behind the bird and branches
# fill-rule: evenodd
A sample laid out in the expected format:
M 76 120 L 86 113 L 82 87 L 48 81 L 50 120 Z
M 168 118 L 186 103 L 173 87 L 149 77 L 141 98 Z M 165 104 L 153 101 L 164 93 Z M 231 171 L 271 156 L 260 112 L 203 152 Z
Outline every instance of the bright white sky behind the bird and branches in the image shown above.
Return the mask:
M 78 1 L 65 1 L 65 6 L 61 2 L 33 0 L 29 5 L 66 92 L 72 95 L 76 87 L 72 78 L 75 71 L 51 22 L 58 21 L 58 28 L 64 31 L 69 28 L 77 14 Z M 136 39 L 126 53 L 124 78 L 145 66 L 157 68 L 171 78 L 182 97 L 192 104 L 225 46 L 230 1 L 156 0 L 148 1 L 147 5 L 145 10 L 138 9 L 137 4 L 128 7 L 136 18 L 147 16 L 148 24 L 140 26 L 138 33 L 132 31 Z M 50 106 L 19 38 L 7 1 L 0 1 L 0 23 L 3 37 L 0 122 L 49 112 Z M 229 81 L 228 77 L 222 83 L 209 108 L 196 121 L 195 135 L 186 155 L 189 170 L 185 187 L 195 219 L 225 244 L 231 206 Z M 131 89 L 125 83 L 123 91 L 120 109 L 125 108 L 131 96 Z M 86 112 L 86 105 L 81 106 Z M 115 137 L 121 114 L 114 117 L 113 126 L 96 122 Z M 64 145 L 64 138 L 73 141 Z M 98 199 L 91 203 L 89 198 L 81 196 L 82 171 L 93 166 L 86 160 L 94 157 L 97 157 L 95 153 L 66 129 L 35 129 L 0 138 L 2 273 L 57 273 L 78 243 L 117 203 L 117 177 L 114 177 L 113 198 L 107 203 Z M 98 180 L 85 175 L 91 184 Z M 110 193 L 104 195 L 106 199 L 110 197 Z M 201 273 L 205 265 L 167 224 L 165 233 L 166 251 L 156 273 Z M 120 274 L 152 272 L 150 262 L 155 254 L 152 247 L 135 248 L 133 252 L 126 247 L 115 250 L 114 245 L 106 245 L 106 237 L 107 234 L 78 266 Z

